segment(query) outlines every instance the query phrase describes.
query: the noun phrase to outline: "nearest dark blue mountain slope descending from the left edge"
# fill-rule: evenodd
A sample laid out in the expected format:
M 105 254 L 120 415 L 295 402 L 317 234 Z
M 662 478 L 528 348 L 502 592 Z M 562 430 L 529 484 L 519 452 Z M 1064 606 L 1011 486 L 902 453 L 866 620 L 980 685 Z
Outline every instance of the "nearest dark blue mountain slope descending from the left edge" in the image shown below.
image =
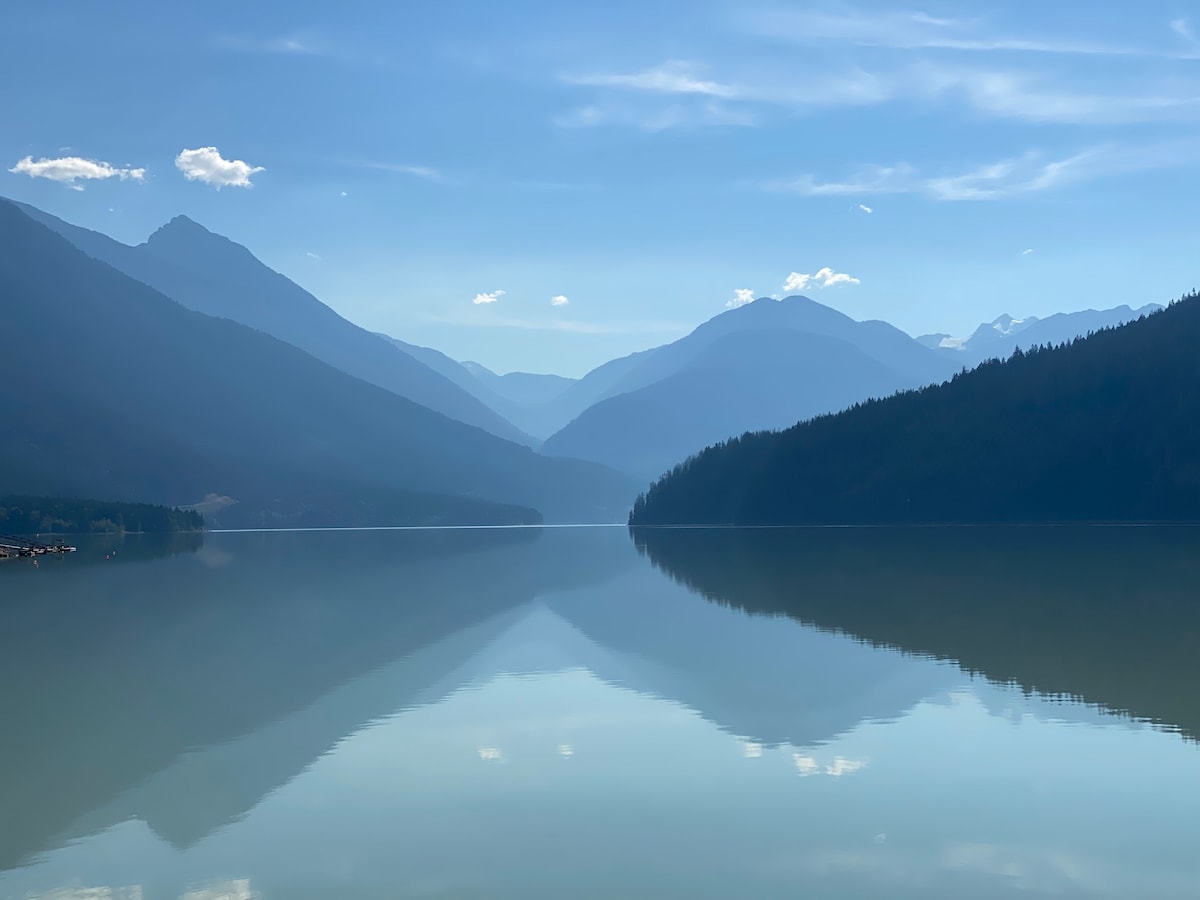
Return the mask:
M 220 494 L 222 524 L 612 521 L 632 493 L 186 310 L 2 202 L 0 298 L 0 492 Z

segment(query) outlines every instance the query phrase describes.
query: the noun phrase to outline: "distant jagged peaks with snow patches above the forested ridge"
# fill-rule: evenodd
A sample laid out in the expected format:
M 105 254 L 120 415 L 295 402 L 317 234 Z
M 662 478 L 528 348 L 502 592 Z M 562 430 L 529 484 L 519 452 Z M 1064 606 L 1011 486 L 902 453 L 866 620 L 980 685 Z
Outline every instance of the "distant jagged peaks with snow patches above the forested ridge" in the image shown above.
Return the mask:
M 1158 304 L 1146 304 L 1138 310 L 1129 306 L 1117 306 L 1112 310 L 1060 312 L 1044 319 L 1039 319 L 1037 316 L 1014 319 L 1006 313 L 992 322 L 983 323 L 966 338 L 937 334 L 922 335 L 917 341 L 925 347 L 932 347 L 940 353 L 944 353 L 970 368 L 985 359 L 1006 359 L 1016 348 L 1027 350 L 1031 347 L 1043 344 L 1057 347 L 1092 331 L 1123 325 L 1162 308 Z

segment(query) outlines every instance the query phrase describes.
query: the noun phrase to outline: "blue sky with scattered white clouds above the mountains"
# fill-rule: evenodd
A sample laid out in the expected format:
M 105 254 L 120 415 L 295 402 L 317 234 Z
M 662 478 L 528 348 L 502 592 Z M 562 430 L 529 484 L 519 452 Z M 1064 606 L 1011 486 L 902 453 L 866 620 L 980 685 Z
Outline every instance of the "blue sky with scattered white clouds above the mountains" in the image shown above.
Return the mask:
M 23 4 L 0 196 L 184 214 L 347 318 L 580 376 L 754 296 L 913 335 L 1196 286 L 1200 7 Z

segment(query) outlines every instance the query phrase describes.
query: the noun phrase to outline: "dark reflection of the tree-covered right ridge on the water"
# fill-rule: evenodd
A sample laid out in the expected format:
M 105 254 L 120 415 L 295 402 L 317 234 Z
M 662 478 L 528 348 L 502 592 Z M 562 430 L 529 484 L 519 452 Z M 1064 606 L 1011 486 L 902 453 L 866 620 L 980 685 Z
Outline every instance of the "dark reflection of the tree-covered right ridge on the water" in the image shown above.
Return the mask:
M 710 600 L 1200 738 L 1200 529 L 642 529 Z

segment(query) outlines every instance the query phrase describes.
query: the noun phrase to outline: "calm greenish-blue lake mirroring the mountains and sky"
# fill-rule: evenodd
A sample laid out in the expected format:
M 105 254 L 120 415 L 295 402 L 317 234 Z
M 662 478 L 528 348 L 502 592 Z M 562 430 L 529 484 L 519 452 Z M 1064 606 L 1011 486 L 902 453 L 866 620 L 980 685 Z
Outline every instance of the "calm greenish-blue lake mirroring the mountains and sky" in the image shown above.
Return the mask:
M 1200 530 L 0 563 L 0 898 L 1195 898 Z

